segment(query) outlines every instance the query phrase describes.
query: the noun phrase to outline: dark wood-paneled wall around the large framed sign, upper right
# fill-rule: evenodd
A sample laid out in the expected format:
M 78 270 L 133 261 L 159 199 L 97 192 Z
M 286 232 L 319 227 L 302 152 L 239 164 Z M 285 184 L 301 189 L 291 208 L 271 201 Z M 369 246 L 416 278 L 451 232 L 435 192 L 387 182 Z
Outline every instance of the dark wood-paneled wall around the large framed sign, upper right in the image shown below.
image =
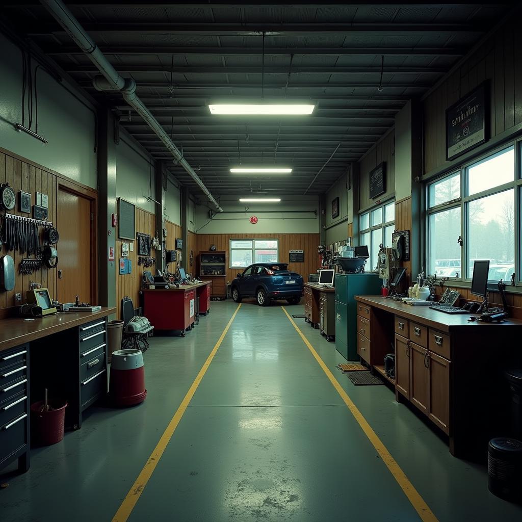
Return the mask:
M 513 17 L 423 102 L 424 173 L 446 163 L 446 109 L 484 80 L 489 84 L 489 135 L 522 123 L 522 39 Z

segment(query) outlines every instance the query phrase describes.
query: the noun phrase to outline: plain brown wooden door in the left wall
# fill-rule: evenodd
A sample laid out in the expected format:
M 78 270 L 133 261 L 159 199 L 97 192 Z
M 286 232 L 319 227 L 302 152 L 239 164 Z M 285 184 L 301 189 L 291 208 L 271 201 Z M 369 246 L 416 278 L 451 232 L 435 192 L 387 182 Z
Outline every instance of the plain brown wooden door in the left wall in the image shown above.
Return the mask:
M 58 301 L 91 302 L 92 232 L 91 199 L 60 187 L 57 193 L 57 227 L 60 233 L 58 251 Z M 61 275 L 61 277 L 60 277 Z M 93 303 L 95 304 L 95 303 Z

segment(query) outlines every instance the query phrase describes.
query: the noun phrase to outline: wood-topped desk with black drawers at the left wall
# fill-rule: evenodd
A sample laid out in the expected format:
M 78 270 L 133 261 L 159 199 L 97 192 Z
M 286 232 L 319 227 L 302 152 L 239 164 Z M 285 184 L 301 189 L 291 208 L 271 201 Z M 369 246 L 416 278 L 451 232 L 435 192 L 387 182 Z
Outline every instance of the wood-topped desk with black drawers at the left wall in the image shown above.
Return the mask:
M 32 402 L 50 396 L 67 400 L 66 428 L 81 427 L 81 413 L 107 393 L 107 317 L 94 313 L 54 314 L 0 321 L 0 468 L 18 458 L 29 469 Z

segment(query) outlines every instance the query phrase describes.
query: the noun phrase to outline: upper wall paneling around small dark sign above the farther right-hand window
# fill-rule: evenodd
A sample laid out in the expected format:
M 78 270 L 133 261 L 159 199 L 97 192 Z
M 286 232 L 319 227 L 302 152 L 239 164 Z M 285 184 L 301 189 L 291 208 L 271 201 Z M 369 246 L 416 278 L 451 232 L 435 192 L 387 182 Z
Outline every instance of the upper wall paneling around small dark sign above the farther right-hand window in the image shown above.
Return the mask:
M 370 199 L 370 171 L 386 162 L 386 192 L 377 199 Z M 359 162 L 359 208 L 368 208 L 377 200 L 384 200 L 395 193 L 395 129 L 378 141 Z M 354 202 L 355 203 L 355 202 Z M 354 209 L 354 213 L 357 210 Z

